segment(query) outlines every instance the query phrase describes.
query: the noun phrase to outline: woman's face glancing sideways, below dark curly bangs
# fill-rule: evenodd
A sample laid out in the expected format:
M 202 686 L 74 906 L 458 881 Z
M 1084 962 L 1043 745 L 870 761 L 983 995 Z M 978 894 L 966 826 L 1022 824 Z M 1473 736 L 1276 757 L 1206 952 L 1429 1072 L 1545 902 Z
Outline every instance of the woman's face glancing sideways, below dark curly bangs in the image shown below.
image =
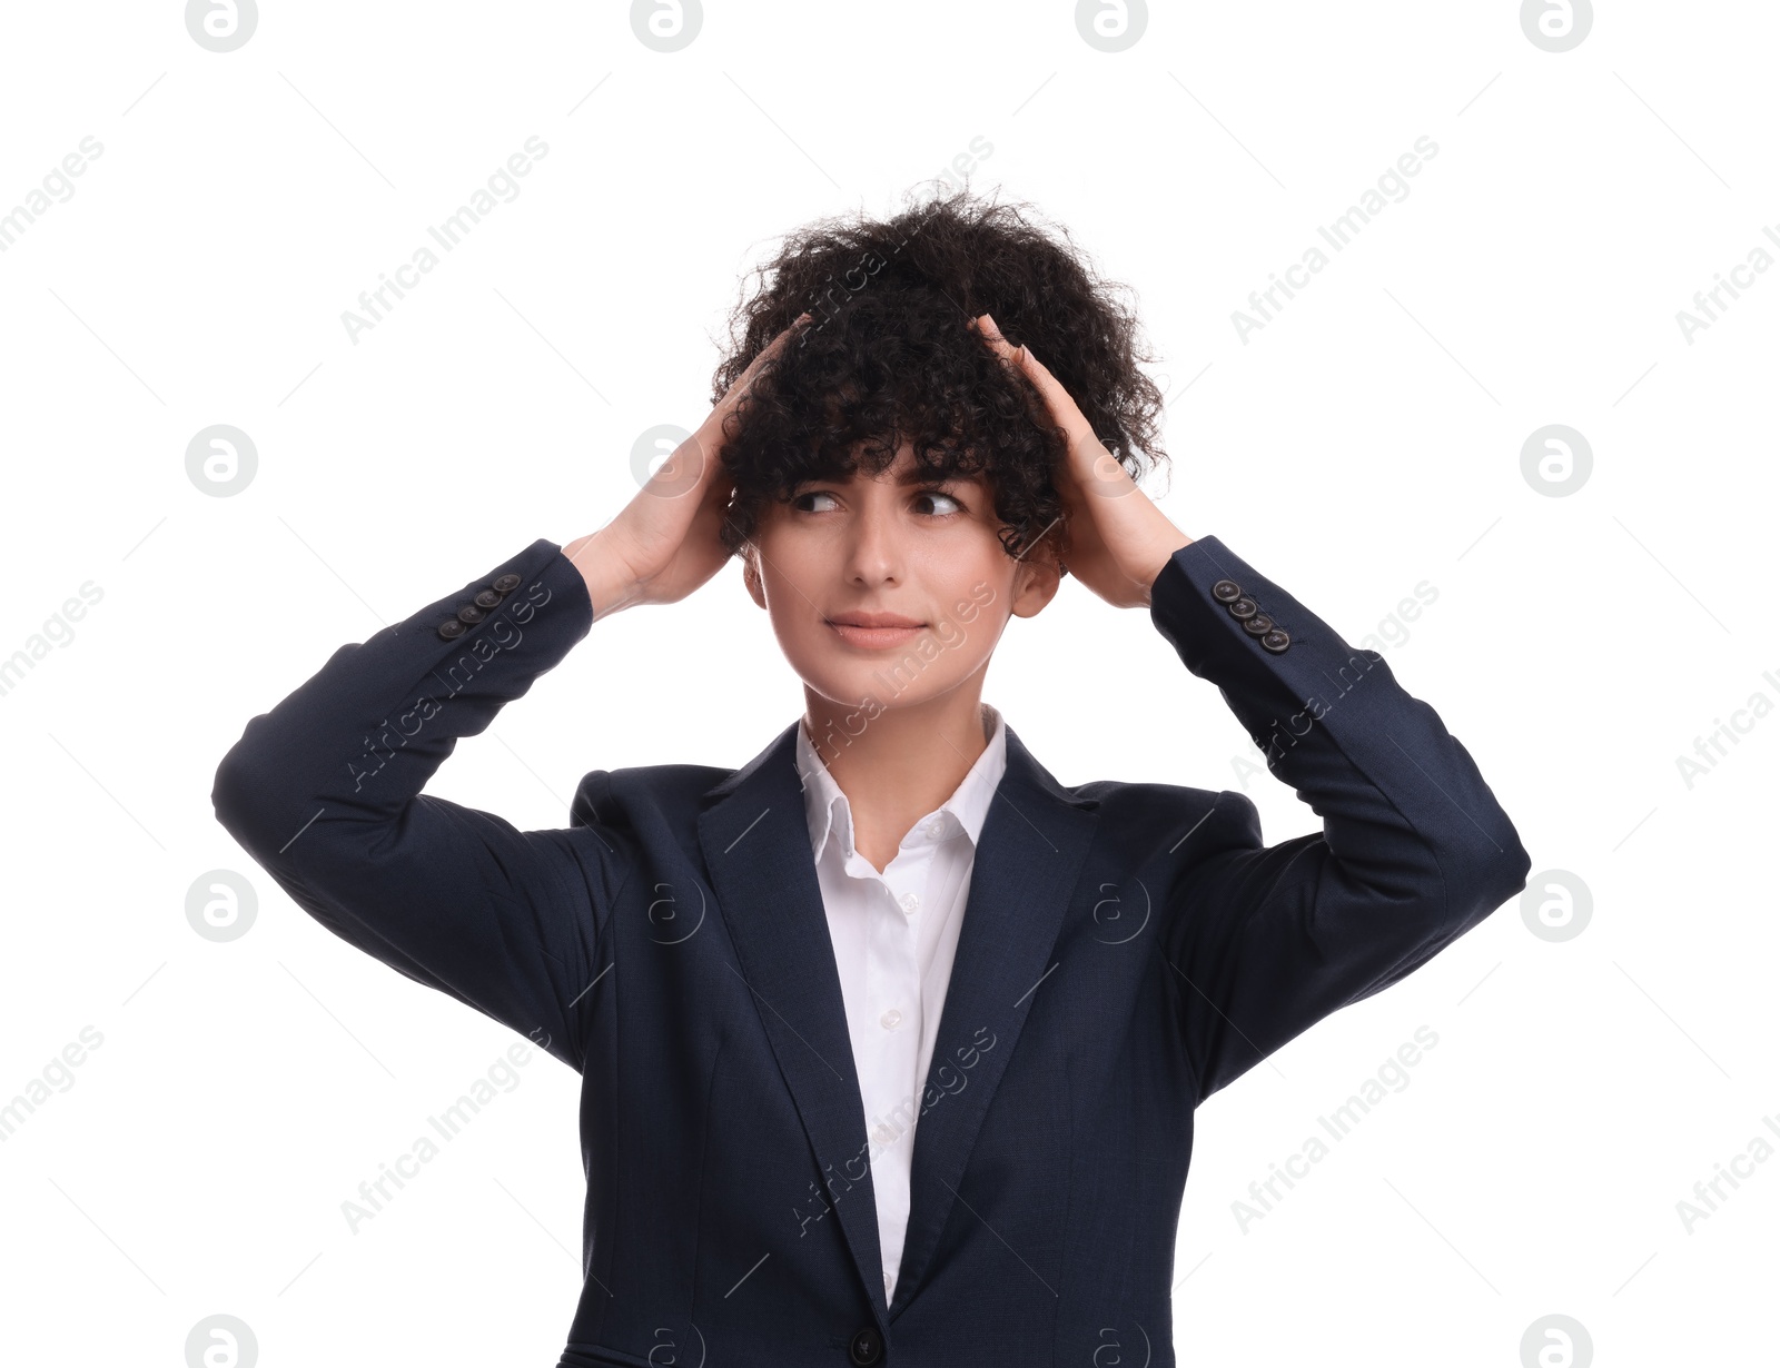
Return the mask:
M 744 582 L 810 688 L 908 706 L 979 674 L 1007 619 L 1057 592 L 1048 544 L 1015 560 L 1000 527 L 984 480 L 933 482 L 904 443 L 878 479 L 808 480 L 767 505 Z

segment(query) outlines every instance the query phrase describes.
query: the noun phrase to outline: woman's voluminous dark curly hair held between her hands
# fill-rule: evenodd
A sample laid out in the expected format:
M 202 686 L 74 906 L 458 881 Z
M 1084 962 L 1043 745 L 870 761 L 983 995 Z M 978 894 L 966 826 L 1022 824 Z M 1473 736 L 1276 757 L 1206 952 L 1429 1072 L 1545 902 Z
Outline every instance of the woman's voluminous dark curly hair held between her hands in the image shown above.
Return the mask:
M 846 480 L 860 466 L 879 475 L 908 441 L 936 480 L 984 475 L 1000 543 L 1024 555 L 1063 519 L 1052 471 L 1064 439 L 1032 384 L 968 322 L 990 313 L 1009 343 L 1031 345 L 1136 480 L 1145 459 L 1159 468 L 1168 454 L 1162 395 L 1137 368 L 1153 358 L 1125 294 L 1068 229 L 968 189 L 888 221 L 860 213 L 792 231 L 744 278 L 712 377 L 717 402 L 773 338 L 812 315 L 724 423 L 735 482 L 724 546 L 739 553 L 765 505 L 797 484 Z

